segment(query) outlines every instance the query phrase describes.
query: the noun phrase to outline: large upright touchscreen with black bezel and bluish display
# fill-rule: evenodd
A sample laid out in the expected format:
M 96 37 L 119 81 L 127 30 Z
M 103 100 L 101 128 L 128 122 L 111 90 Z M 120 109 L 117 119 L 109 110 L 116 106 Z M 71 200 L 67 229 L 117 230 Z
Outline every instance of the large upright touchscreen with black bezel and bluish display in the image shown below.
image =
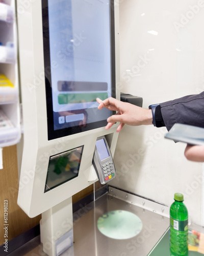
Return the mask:
M 42 1 L 48 140 L 105 126 L 115 97 L 111 0 Z

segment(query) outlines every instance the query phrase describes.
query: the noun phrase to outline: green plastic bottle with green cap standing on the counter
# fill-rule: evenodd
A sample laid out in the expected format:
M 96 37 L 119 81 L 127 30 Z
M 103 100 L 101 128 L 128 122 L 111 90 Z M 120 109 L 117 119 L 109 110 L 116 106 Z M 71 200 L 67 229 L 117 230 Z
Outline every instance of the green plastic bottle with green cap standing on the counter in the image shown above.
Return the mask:
M 181 193 L 170 207 L 170 256 L 188 256 L 188 210 Z

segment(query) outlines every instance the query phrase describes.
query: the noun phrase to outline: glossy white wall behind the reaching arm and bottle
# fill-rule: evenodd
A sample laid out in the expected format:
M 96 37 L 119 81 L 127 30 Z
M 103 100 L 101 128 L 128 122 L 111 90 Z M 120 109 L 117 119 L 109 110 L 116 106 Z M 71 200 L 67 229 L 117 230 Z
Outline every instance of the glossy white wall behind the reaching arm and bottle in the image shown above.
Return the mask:
M 121 92 L 143 97 L 148 108 L 203 91 L 203 0 L 120 0 L 119 10 Z M 111 184 L 168 206 L 181 192 L 192 222 L 203 224 L 203 165 L 186 160 L 186 145 L 164 139 L 166 132 L 124 126 Z

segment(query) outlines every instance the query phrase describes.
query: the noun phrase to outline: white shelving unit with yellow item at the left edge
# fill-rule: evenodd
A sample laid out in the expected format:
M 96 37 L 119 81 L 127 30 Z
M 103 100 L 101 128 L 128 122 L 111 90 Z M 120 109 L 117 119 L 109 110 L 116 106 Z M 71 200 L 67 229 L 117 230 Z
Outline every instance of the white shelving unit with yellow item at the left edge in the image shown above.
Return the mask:
M 20 136 L 15 0 L 0 0 L 0 147 L 18 143 Z

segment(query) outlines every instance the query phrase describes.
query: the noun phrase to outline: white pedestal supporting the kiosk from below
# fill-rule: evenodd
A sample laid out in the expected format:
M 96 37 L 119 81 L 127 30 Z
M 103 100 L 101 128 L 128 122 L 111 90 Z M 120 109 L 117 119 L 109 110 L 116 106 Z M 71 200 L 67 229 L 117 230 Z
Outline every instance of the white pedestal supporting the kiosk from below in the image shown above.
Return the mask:
M 72 198 L 42 213 L 40 240 L 43 251 L 58 256 L 73 244 Z

